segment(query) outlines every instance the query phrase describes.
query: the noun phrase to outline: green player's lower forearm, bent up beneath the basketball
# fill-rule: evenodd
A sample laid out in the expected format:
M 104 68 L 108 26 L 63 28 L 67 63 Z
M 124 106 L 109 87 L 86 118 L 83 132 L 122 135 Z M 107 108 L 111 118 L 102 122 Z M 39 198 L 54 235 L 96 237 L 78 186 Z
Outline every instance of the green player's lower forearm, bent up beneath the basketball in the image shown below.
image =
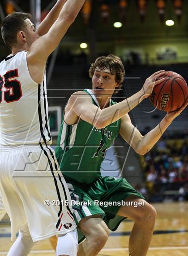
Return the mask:
M 138 143 L 137 149 L 141 154 L 150 151 L 151 148 L 158 142 L 164 131 L 171 124 L 171 121 L 164 117 L 162 121 L 153 130 L 150 130 Z

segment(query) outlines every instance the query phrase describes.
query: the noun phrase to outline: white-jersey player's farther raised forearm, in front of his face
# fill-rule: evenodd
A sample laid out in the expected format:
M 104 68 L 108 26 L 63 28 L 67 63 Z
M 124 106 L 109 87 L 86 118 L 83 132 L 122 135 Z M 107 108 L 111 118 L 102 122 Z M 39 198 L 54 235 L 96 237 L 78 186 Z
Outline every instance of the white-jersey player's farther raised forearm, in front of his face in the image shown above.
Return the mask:
M 61 9 L 63 8 L 66 0 L 58 0 L 51 11 L 47 14 L 44 20 L 40 23 L 37 29 L 37 33 L 39 36 L 45 35 L 51 26 L 54 24 L 56 19 L 58 18 Z

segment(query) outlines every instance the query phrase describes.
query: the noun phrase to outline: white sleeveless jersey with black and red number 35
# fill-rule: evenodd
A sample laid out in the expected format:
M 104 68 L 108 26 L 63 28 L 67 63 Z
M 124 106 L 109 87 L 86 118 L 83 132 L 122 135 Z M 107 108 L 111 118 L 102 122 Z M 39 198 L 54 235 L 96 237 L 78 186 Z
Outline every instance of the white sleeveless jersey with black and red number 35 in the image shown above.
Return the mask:
M 0 145 L 51 144 L 46 76 L 30 77 L 26 51 L 0 63 Z

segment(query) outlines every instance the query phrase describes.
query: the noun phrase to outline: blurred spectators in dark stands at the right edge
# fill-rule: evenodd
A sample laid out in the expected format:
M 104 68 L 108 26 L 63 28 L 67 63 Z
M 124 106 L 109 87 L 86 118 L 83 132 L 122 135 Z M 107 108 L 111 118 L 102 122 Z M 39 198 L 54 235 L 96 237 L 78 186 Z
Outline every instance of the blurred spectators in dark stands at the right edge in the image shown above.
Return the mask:
M 137 185 L 146 199 L 188 200 L 188 133 L 167 134 L 142 159 L 145 187 Z

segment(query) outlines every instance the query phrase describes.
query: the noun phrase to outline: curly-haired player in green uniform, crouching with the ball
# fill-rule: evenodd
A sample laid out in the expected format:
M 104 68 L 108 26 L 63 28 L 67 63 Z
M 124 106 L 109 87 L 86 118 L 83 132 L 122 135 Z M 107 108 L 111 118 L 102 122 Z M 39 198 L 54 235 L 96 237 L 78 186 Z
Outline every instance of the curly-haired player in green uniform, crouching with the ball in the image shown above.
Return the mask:
M 64 109 L 56 148 L 60 170 L 74 202 L 79 242 L 86 238 L 77 255 L 97 255 L 107 241 L 109 229 L 117 229 L 124 218 L 130 218 L 134 220 L 129 239 L 130 255 L 145 256 L 154 230 L 156 211 L 126 179 L 102 177 L 100 166 L 107 148 L 118 134 L 138 154 L 144 155 L 185 106 L 178 112 L 167 113 L 158 126 L 142 136 L 132 125 L 128 112 L 163 81 L 160 76 L 164 70 L 155 72 L 146 79 L 140 91 L 120 103 L 111 99 L 125 76 L 120 58 L 114 55 L 100 57 L 89 72 L 93 89 L 71 95 Z M 114 202 L 117 204 L 112 204 Z

